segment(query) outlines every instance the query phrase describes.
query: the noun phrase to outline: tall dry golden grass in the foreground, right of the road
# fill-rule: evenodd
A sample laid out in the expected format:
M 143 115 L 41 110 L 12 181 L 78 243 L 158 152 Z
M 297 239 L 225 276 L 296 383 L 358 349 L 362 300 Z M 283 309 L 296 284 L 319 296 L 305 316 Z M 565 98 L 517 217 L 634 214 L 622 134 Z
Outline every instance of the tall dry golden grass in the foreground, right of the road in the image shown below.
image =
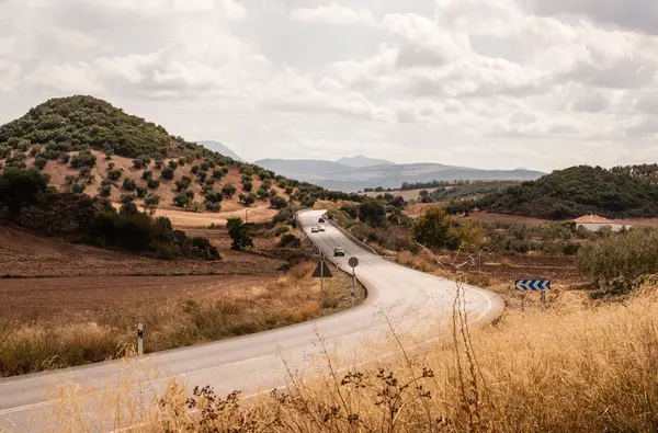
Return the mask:
M 114 425 L 141 432 L 657 431 L 656 289 L 625 304 L 567 292 L 546 308 L 508 311 L 496 326 L 470 332 L 461 318 L 455 315 L 444 344 L 349 372 L 328 368 L 326 377 L 291 375 L 287 390 L 249 404 L 209 389 L 189 396 L 172 381 L 157 400 L 131 400 L 135 415 Z M 67 408 L 66 420 L 81 419 L 71 415 L 76 404 Z M 104 413 L 116 413 L 116 406 L 110 409 Z

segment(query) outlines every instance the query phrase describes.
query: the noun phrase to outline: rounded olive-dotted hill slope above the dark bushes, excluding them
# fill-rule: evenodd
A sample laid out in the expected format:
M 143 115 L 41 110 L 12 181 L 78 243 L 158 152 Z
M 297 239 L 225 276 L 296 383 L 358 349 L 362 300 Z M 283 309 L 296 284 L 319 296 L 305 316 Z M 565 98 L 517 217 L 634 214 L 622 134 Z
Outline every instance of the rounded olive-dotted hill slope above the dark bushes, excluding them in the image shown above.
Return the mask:
M 200 210 L 360 200 L 235 160 L 84 95 L 58 98 L 0 126 L 0 166 L 34 167 L 60 192 Z M 158 197 L 154 197 L 158 196 Z M 146 203 L 145 203 L 146 204 Z

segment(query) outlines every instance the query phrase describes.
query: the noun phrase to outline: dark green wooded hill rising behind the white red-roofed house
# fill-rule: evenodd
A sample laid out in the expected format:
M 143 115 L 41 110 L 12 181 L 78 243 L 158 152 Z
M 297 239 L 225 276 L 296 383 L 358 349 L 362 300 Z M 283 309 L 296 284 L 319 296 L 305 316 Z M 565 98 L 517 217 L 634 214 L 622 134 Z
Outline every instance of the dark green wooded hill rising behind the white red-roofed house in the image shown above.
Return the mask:
M 658 166 L 578 166 L 556 170 L 478 201 L 453 203 L 449 212 L 473 207 L 501 213 L 565 219 L 589 213 L 609 218 L 658 216 Z

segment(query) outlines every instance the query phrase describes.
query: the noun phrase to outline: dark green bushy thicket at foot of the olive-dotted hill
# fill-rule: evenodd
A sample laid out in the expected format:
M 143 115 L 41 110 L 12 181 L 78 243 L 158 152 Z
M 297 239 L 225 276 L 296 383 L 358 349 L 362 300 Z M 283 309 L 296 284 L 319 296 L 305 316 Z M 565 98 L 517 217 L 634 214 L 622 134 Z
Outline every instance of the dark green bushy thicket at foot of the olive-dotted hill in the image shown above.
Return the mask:
M 207 239 L 188 238 L 173 230 L 169 219 L 137 212 L 129 200 L 117 213 L 107 200 L 60 194 L 47 184 L 47 178 L 35 169 L 4 169 L 0 174 L 0 217 L 45 236 L 103 248 L 161 258 L 219 259 Z

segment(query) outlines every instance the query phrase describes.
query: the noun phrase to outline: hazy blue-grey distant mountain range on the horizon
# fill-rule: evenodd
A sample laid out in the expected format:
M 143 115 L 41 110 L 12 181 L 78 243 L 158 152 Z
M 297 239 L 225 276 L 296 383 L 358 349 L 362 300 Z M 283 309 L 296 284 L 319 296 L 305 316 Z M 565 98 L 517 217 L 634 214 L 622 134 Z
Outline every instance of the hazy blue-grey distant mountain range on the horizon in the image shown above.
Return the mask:
M 206 140 L 198 141 L 198 144 L 238 161 L 243 161 L 236 152 L 218 141 Z M 328 190 L 347 192 L 377 186 L 396 189 L 405 182 L 525 181 L 546 174 L 526 169 L 480 170 L 440 163 L 396 164 L 392 161 L 367 158 L 363 155 L 343 157 L 336 161 L 321 159 L 261 159 L 253 161 L 253 163 L 291 179 L 310 182 Z

